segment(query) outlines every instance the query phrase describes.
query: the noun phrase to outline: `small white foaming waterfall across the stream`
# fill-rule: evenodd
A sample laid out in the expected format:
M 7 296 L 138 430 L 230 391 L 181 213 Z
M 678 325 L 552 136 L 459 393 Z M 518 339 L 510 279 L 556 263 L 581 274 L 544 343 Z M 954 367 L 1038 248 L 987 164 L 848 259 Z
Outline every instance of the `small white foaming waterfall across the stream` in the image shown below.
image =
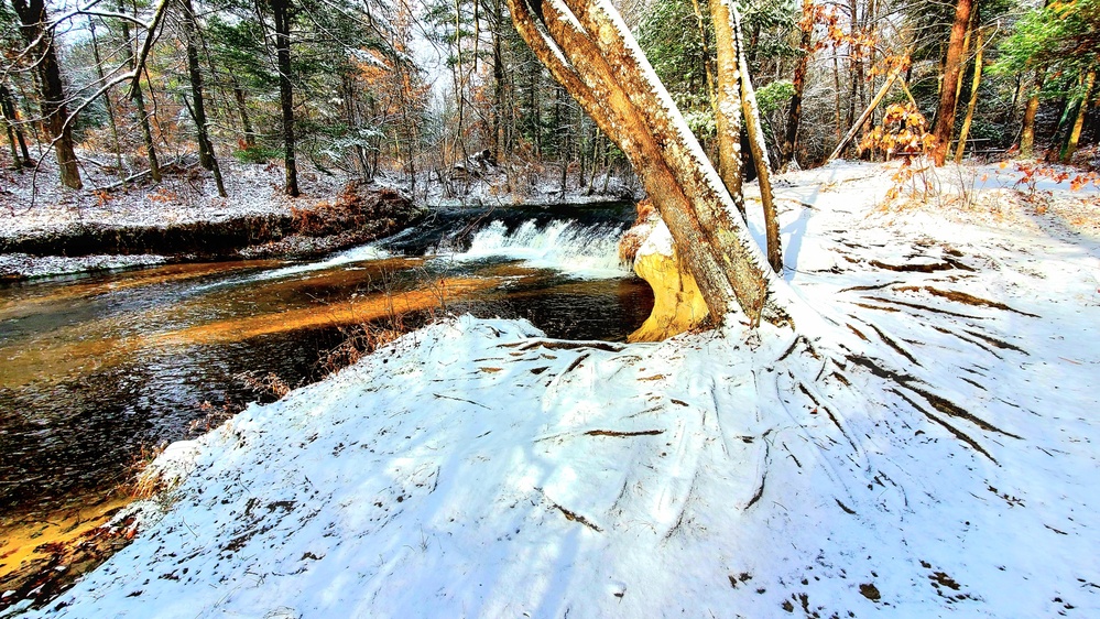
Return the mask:
M 504 222 L 497 220 L 475 232 L 468 249 L 459 249 L 455 239 L 445 239 L 436 254 L 455 260 L 504 257 L 579 278 L 621 278 L 629 273 L 619 261 L 621 236 L 622 227 L 610 224 L 584 225 L 567 219 L 540 226 L 529 220 L 509 232 Z

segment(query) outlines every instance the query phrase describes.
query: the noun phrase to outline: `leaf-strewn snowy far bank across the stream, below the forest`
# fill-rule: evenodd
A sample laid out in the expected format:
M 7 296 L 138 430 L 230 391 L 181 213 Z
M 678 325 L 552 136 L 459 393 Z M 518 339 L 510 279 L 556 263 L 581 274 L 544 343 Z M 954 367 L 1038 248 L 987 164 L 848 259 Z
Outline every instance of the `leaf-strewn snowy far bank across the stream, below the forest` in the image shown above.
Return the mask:
M 330 226 L 327 236 L 298 234 L 303 214 L 323 217 L 329 204 L 346 202 L 345 180 L 303 166 L 303 195 L 282 194 L 277 165 L 224 163 L 228 198 L 218 197 L 211 178 L 197 167 L 166 174 L 161 184 L 129 187 L 94 170 L 87 187 L 62 189 L 48 162 L 37 174 L 0 171 L 7 209 L 0 213 L 0 280 L 21 280 L 85 271 L 144 267 L 168 261 L 211 258 L 301 258 L 360 245 L 377 235 L 362 234 L 361 221 Z M 372 192 L 396 192 L 416 205 L 456 208 L 588 204 L 620 199 L 635 191 L 619 178 L 607 178 L 589 193 L 576 180 L 563 194 L 552 171 L 526 172 L 522 187 L 512 187 L 503 171 L 468 183 L 445 186 L 423 175 L 416 195 L 394 180 L 380 178 Z M 545 177 L 544 177 L 545 176 Z M 108 188 L 109 187 L 109 188 Z M 364 186 L 366 187 L 366 186 Z M 511 187 L 511 189 L 509 189 Z M 460 195 L 447 189 L 460 189 Z M 368 219 L 378 219 L 370 214 Z M 316 217 L 316 218 L 319 218 Z M 400 216 L 391 217 L 401 219 Z M 392 230 L 391 230 L 392 231 Z

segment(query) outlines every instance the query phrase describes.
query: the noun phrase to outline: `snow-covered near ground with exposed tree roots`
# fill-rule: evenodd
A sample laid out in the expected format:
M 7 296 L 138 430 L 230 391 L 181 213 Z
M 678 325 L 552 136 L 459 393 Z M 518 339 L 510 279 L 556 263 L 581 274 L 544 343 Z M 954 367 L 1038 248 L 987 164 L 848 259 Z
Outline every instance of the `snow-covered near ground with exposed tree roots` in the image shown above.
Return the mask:
M 782 177 L 797 330 L 410 334 L 170 449 L 41 615 L 1100 616 L 1094 194 L 890 176 Z

